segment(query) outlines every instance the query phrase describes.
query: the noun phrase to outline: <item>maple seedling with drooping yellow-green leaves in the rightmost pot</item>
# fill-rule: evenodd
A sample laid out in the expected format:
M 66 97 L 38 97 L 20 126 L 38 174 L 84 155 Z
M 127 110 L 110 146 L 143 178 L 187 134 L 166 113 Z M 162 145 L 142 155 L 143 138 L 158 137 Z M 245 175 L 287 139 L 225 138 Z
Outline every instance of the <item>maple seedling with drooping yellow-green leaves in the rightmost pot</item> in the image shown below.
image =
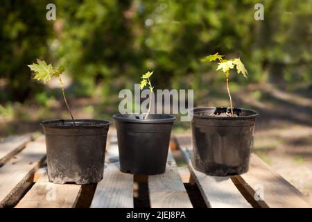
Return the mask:
M 225 74 L 225 77 L 227 78 L 227 94 L 229 95 L 229 103 L 231 105 L 231 114 L 233 116 L 233 105 L 232 105 L 232 97 L 229 93 L 229 71 L 231 69 L 236 68 L 237 74 L 243 74 L 245 78 L 248 78 L 248 71 L 245 69 L 245 65 L 243 65 L 243 62 L 241 62 L 240 58 L 232 58 L 229 60 L 223 59 L 224 56 L 219 55 L 219 53 L 216 53 L 214 55 L 206 56 L 205 58 L 202 58 L 200 62 L 213 62 L 218 60 L 218 67 L 216 70 L 221 70 Z

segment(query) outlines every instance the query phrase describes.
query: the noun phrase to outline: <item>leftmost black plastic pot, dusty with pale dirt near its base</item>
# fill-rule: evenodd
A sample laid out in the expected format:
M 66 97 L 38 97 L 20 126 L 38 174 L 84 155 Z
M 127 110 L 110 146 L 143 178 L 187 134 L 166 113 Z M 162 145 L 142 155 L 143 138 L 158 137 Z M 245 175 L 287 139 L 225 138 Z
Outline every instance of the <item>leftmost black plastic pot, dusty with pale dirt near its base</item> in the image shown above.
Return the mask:
M 76 119 L 43 121 L 49 181 L 84 185 L 103 178 L 110 121 Z

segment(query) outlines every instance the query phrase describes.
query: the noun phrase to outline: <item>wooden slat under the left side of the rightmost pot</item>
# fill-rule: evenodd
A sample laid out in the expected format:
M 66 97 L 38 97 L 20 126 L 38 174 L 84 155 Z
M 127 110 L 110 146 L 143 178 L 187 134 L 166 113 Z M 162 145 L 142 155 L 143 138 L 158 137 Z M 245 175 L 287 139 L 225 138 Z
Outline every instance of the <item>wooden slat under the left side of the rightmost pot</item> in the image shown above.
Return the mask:
M 189 165 L 191 175 L 196 180 L 207 207 L 251 207 L 250 203 L 245 200 L 236 188 L 231 178 L 207 176 L 205 173 L 201 173 L 193 168 L 190 161 L 192 152 L 191 137 L 177 137 L 177 143 Z

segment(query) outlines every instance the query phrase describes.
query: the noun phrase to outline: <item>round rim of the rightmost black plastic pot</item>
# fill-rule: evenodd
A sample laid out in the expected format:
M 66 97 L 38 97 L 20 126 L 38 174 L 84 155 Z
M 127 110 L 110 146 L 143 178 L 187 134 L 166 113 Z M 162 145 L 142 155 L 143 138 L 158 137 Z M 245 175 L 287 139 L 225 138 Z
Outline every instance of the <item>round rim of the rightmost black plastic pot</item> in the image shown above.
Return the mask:
M 222 119 L 222 120 L 240 120 L 240 119 L 250 119 L 250 118 L 256 118 L 259 115 L 259 112 L 255 111 L 255 110 L 250 110 L 250 109 L 245 109 L 245 108 L 233 108 L 234 110 L 243 110 L 243 111 L 249 111 L 249 112 L 253 112 L 253 114 L 250 114 L 248 116 L 239 116 L 239 117 L 218 117 L 218 116 L 202 116 L 199 114 L 194 114 L 194 111 L 196 112 L 197 110 L 211 110 L 211 109 L 217 109 L 217 108 L 227 108 L 230 109 L 229 107 L 215 107 L 215 106 L 209 106 L 209 107 L 196 107 L 196 108 L 192 108 L 190 109 L 188 112 L 189 114 L 191 114 L 193 117 L 198 117 L 201 119 Z

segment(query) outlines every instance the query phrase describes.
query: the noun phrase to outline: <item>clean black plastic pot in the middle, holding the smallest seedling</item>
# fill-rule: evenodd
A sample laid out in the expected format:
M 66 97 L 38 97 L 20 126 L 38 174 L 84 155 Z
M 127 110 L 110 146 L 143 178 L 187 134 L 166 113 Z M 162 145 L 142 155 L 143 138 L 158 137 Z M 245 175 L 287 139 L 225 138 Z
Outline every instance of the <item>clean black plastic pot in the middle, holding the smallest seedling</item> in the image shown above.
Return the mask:
M 171 128 L 175 117 L 149 114 L 114 114 L 119 146 L 120 170 L 124 173 L 155 175 L 164 173 Z

